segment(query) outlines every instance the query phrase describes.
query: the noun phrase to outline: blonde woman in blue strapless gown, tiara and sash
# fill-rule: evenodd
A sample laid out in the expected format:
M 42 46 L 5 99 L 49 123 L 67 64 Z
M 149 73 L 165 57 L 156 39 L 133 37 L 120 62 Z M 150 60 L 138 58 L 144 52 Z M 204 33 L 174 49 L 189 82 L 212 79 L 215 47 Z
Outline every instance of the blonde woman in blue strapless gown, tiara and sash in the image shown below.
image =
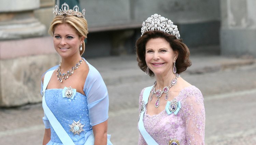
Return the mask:
M 87 38 L 85 10 L 64 3 L 49 28 L 61 62 L 42 76 L 43 145 L 106 145 L 108 91 L 99 72 L 82 54 Z

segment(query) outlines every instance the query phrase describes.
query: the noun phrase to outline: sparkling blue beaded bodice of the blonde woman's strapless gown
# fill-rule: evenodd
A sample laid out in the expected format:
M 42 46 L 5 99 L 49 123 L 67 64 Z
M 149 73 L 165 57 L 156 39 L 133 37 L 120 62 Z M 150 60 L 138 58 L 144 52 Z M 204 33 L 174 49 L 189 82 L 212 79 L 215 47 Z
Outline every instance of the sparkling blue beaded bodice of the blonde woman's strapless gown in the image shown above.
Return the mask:
M 76 92 L 73 99 L 62 97 L 63 89 L 47 89 L 45 91 L 45 102 L 52 113 L 55 115 L 61 126 L 68 133 L 70 138 L 77 142 L 85 136 L 85 133 L 92 130 L 90 126 L 90 119 L 88 116 L 87 97 L 79 92 Z M 79 121 L 84 125 L 80 135 L 73 133 L 70 126 L 74 121 Z M 58 135 L 51 126 L 51 140 L 53 142 L 61 143 Z

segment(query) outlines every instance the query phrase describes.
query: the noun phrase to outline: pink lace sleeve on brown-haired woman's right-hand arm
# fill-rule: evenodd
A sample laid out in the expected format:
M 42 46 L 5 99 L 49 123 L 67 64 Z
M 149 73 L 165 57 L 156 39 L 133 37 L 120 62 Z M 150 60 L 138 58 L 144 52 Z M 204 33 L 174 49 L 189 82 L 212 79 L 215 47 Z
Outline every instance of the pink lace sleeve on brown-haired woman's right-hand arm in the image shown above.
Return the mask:
M 188 145 L 204 145 L 205 110 L 199 89 L 188 90 L 182 110 Z

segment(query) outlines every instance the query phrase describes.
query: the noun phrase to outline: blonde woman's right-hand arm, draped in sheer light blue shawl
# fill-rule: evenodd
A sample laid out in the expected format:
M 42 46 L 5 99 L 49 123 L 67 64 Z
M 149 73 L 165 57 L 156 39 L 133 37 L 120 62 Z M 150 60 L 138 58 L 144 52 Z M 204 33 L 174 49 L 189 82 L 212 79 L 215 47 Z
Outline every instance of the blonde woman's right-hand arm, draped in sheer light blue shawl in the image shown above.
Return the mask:
M 107 144 L 109 95 L 99 72 L 93 67 L 86 78 L 84 93 L 87 97 L 90 125 L 93 127 L 95 145 Z

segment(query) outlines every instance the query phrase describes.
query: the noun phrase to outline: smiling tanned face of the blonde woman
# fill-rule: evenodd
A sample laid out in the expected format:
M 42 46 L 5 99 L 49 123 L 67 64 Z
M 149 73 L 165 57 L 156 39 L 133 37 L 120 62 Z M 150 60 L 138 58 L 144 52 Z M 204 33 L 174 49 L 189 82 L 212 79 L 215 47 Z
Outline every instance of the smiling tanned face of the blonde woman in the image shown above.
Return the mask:
M 75 29 L 68 24 L 59 24 L 54 29 L 54 48 L 63 58 L 80 56 L 79 48 L 83 41 L 84 37 L 79 37 Z

